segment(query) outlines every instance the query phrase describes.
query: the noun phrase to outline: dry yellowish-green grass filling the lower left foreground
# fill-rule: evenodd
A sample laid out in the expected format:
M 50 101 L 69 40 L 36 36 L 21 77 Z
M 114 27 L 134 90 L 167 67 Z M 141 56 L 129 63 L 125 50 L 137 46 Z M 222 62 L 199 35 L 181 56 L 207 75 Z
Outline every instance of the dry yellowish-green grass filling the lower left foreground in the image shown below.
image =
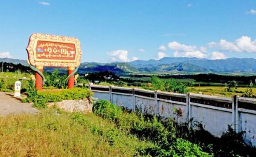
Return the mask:
M 93 113 L 57 112 L 0 117 L 0 156 L 12 157 L 128 157 L 147 142 L 125 135 Z M 116 131 L 119 140 L 111 141 Z

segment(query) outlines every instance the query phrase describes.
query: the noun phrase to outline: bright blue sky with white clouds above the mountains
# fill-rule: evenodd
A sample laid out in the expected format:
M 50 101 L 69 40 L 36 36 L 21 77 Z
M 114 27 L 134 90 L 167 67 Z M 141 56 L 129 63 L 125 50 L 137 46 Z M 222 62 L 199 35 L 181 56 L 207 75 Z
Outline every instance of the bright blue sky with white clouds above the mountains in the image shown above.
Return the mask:
M 79 39 L 82 62 L 256 58 L 256 0 L 5 0 L 0 58 L 39 32 Z

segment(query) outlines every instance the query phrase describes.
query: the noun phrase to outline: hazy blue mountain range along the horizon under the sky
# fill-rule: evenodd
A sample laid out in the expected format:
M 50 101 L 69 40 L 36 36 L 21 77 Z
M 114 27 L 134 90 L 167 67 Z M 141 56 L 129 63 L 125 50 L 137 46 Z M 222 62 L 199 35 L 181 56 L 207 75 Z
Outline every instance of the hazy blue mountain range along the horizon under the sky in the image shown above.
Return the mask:
M 0 61 L 27 66 L 26 60 L 0 58 Z M 227 58 L 209 60 L 201 58 L 171 58 L 136 60 L 131 62 L 84 62 L 79 73 L 111 71 L 113 73 L 256 73 L 256 59 Z

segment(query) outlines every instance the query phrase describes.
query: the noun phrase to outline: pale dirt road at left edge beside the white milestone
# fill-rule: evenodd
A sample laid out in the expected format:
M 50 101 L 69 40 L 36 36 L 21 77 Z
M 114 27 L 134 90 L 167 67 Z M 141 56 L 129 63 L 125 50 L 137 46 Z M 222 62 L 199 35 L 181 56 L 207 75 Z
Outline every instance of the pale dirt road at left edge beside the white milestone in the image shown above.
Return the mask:
M 13 97 L 13 93 L 0 92 L 0 116 L 10 113 L 37 113 L 29 103 L 22 103 L 20 99 Z

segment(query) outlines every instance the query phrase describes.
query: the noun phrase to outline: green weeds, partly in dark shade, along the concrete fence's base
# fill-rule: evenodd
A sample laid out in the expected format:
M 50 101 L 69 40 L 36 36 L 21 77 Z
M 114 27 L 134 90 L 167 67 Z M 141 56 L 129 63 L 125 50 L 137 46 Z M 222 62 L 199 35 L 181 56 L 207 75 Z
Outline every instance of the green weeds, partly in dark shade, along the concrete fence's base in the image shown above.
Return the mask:
M 256 148 L 244 142 L 244 132 L 236 133 L 231 126 L 221 138 L 214 137 L 204 126 L 190 120 L 194 129 L 187 124 L 178 125 L 173 119 L 163 119 L 152 115 L 143 115 L 139 109 L 136 113 L 123 112 L 121 108 L 108 101 L 101 100 L 94 104 L 93 112 L 116 124 L 126 134 L 134 134 L 141 140 L 154 145 L 140 148 L 144 155 L 159 157 L 250 157 Z M 177 116 L 178 110 L 175 110 Z

